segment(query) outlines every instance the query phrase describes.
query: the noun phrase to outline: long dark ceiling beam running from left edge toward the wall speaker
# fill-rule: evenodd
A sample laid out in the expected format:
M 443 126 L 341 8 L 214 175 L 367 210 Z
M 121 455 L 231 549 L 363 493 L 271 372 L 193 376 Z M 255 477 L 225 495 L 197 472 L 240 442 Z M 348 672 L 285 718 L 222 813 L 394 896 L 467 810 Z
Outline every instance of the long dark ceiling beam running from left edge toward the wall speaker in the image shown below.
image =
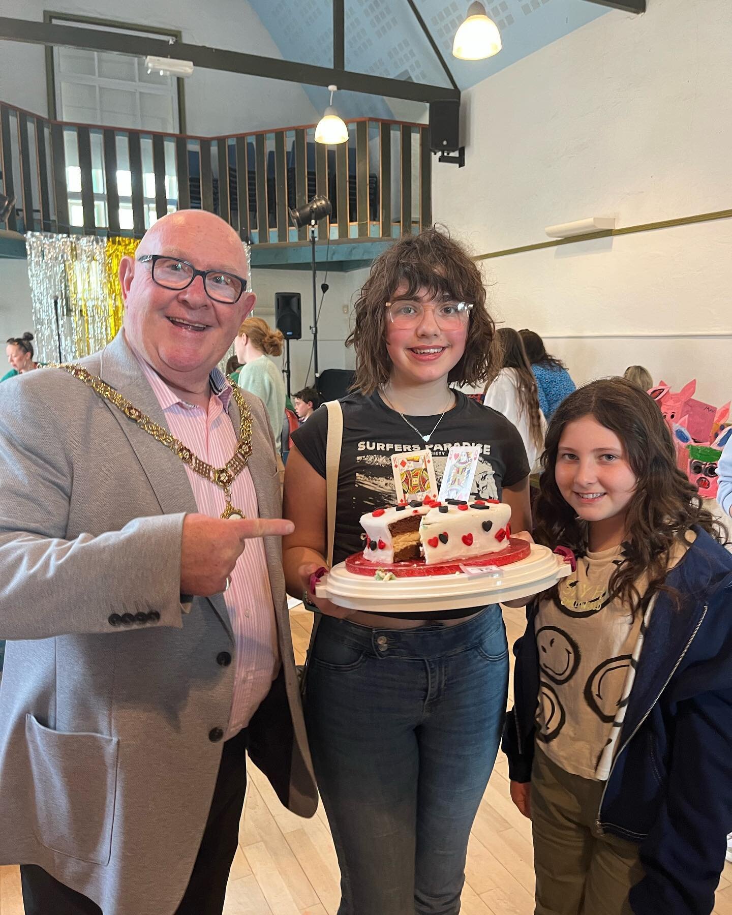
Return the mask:
M 445 86 L 392 80 L 383 76 L 353 73 L 350 70 L 335 67 L 316 67 L 313 64 L 297 63 L 291 60 L 244 54 L 242 51 L 188 45 L 175 40 L 170 43 L 162 38 L 145 38 L 139 35 L 125 35 L 124 32 L 35 22 L 11 16 L 0 16 L 0 40 L 3 39 L 61 48 L 114 51 L 118 54 L 130 54 L 133 57 L 153 55 L 175 60 L 192 60 L 194 67 L 208 70 L 244 73 L 247 76 L 261 76 L 267 80 L 302 82 L 309 86 L 328 86 L 335 83 L 339 89 L 347 89 L 350 92 L 385 95 L 409 102 L 434 102 L 436 99 L 459 101 L 460 98 L 459 90 Z

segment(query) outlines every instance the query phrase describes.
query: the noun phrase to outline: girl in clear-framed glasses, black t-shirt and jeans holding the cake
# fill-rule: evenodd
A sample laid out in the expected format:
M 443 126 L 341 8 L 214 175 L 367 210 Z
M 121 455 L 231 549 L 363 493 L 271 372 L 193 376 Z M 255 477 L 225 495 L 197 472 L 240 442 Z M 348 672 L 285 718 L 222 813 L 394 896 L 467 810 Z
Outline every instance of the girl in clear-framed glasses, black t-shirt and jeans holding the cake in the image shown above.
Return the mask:
M 529 526 L 521 437 L 451 387 L 494 371 L 493 334 L 479 269 L 447 235 L 406 236 L 376 259 L 349 341 L 355 390 L 340 401 L 334 562 L 362 549 L 361 514 L 394 503 L 392 455 L 427 446 L 438 482 L 451 447 L 479 447 L 474 496 L 508 502 L 512 526 Z M 290 594 L 305 592 L 322 613 L 306 715 L 339 856 L 339 915 L 456 915 L 505 714 L 501 608 L 406 615 L 385 603 L 375 614 L 316 598 L 309 581 L 325 565 L 327 434 L 320 407 L 292 436 L 285 516 L 295 533 L 284 565 Z

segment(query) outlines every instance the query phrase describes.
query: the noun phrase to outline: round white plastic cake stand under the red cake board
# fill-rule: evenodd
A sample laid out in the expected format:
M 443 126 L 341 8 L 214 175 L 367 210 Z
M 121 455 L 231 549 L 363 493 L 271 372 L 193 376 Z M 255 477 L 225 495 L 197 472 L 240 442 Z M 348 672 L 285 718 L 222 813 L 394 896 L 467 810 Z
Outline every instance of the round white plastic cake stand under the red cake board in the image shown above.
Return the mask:
M 340 607 L 367 613 L 388 613 L 390 609 L 397 613 L 458 610 L 531 597 L 552 587 L 570 571 L 561 556 L 546 546 L 532 544 L 531 554 L 517 563 L 485 565 L 445 576 L 377 581 L 354 575 L 345 563 L 339 563 L 320 579 L 315 593 Z

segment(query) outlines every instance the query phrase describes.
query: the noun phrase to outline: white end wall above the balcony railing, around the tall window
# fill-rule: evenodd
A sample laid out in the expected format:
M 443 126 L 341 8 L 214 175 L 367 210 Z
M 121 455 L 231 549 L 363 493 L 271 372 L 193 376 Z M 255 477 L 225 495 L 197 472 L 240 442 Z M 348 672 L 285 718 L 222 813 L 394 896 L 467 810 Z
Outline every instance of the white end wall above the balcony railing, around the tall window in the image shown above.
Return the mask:
M 97 16 L 150 27 L 177 28 L 183 41 L 281 59 L 262 20 L 246 0 L 59 0 L 54 12 Z M 4 0 L 3 15 L 43 19 L 45 0 Z M 185 81 L 188 134 L 217 135 L 312 124 L 319 114 L 299 85 L 197 69 Z M 0 42 L 0 99 L 47 114 L 44 48 Z

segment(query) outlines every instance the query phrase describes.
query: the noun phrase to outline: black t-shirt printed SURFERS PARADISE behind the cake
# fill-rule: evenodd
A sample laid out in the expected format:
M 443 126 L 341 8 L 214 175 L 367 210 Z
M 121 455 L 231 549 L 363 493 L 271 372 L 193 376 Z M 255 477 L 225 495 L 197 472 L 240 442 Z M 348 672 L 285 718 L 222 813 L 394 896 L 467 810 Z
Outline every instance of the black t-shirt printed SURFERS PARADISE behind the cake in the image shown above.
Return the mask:
M 451 447 L 481 447 L 478 469 L 473 480 L 472 497 L 501 499 L 504 486 L 515 486 L 529 474 L 529 461 L 522 437 L 516 427 L 500 413 L 482 406 L 466 394 L 455 392 L 457 404 L 448 410 L 425 444 L 404 419 L 374 392 L 341 398 L 343 443 L 340 450 L 338 501 L 333 562 L 363 549 L 361 515 L 387 508 L 396 501 L 392 456 L 401 451 L 420 451 L 429 447 L 434 460 L 437 487 Z M 440 414 L 409 416 L 421 432 L 428 433 Z M 307 423 L 292 433 L 297 450 L 307 463 L 325 479 L 328 410 L 321 406 Z M 425 618 L 466 616 L 475 608 L 425 613 Z M 390 613 L 389 616 L 399 616 Z

